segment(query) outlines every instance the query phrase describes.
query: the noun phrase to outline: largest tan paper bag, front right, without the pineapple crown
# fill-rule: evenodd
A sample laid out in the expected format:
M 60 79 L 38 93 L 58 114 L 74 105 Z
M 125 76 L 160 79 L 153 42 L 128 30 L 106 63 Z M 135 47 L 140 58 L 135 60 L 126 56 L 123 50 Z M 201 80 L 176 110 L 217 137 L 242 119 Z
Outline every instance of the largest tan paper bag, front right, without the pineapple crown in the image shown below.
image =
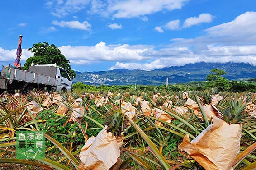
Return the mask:
M 185 135 L 179 145 L 206 170 L 233 170 L 232 164 L 239 153 L 242 124 L 227 124 L 213 116 L 213 124 L 190 142 Z

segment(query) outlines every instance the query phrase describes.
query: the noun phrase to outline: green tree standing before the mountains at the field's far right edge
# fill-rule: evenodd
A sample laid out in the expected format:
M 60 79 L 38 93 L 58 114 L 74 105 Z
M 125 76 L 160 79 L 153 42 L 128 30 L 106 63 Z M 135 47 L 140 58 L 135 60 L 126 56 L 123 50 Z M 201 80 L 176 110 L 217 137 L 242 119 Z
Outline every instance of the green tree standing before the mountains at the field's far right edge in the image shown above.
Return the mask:
M 206 87 L 218 87 L 218 89 L 225 91 L 230 89 L 228 78 L 224 78 L 223 75 L 227 74 L 221 69 L 212 69 L 212 74 L 208 74 L 206 80 L 208 81 Z

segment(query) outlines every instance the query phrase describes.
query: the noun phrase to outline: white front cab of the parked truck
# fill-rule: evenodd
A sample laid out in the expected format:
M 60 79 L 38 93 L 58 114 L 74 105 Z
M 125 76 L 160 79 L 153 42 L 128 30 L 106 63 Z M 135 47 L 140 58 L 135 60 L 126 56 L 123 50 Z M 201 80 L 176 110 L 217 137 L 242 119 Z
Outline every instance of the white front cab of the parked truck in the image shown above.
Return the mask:
M 58 75 L 58 84 L 57 91 L 66 89 L 67 91 L 71 91 L 72 89 L 72 81 L 67 74 L 65 69 L 58 67 L 59 73 Z

